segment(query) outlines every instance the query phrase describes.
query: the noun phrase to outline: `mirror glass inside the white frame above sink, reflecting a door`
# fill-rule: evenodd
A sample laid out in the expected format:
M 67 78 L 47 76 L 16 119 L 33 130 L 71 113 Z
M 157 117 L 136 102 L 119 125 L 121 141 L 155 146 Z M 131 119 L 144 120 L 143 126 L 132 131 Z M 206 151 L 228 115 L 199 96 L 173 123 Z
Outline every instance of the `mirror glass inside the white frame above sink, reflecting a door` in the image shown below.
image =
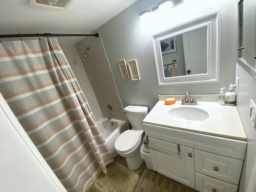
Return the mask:
M 207 26 L 160 40 L 164 78 L 207 73 Z

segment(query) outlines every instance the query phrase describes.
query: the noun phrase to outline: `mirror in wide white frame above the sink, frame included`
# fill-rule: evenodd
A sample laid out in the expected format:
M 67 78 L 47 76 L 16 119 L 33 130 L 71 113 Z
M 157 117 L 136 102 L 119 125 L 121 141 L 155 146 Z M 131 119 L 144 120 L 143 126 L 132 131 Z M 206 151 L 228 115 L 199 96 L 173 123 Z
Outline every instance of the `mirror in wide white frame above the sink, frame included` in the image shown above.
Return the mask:
M 219 12 L 152 36 L 159 85 L 218 82 Z

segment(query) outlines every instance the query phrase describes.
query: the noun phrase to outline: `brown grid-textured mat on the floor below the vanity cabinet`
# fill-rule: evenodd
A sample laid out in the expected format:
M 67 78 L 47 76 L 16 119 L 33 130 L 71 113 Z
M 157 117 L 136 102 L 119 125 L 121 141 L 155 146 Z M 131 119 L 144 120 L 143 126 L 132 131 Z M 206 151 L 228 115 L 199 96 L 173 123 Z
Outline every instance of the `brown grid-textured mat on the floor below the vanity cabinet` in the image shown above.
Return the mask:
M 197 192 L 163 175 L 145 169 L 135 192 Z

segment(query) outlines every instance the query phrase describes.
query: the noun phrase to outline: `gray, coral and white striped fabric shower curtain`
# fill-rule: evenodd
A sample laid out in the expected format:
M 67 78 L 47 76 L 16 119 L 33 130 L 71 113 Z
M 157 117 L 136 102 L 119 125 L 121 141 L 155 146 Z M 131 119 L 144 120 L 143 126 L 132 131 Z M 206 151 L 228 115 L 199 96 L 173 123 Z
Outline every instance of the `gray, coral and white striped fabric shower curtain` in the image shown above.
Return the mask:
M 113 158 L 56 39 L 0 43 L 0 92 L 68 191 L 106 173 Z

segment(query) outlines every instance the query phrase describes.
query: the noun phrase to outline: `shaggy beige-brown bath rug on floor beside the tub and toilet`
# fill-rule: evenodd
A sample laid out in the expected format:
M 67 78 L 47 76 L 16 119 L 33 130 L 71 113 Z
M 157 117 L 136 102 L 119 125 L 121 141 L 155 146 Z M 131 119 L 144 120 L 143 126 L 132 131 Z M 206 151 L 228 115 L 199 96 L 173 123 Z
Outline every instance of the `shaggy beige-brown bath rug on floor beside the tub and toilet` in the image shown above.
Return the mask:
M 116 161 L 106 166 L 107 173 L 101 172 L 94 186 L 87 192 L 134 192 L 139 175 Z

